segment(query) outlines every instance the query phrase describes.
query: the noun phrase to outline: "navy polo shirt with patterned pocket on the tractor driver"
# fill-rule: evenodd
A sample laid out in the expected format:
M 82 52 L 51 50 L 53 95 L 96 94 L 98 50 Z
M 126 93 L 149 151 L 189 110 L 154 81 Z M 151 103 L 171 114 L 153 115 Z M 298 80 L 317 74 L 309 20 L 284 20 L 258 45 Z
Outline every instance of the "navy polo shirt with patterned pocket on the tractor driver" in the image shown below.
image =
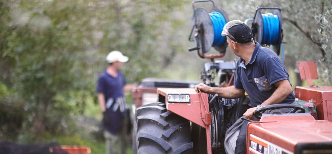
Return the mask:
M 278 55 L 269 48 L 261 47 L 258 42 L 251 56 L 251 60 L 245 65 L 245 60 L 239 58 L 234 76 L 234 86 L 244 89 L 248 95 L 251 107 L 262 104 L 276 91 L 275 82 L 287 79 L 289 75 L 284 63 Z M 291 92 L 281 103 L 291 104 L 295 96 Z

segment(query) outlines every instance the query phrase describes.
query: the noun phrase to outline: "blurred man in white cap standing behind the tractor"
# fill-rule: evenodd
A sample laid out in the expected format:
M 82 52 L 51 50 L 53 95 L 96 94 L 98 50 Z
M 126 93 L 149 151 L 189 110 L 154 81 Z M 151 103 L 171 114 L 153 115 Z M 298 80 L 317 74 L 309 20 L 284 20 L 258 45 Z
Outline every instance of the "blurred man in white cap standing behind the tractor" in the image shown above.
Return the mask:
M 130 117 L 125 102 L 124 89 L 126 81 L 120 69 L 128 61 L 120 51 L 112 51 L 107 57 L 108 67 L 98 79 L 98 101 L 103 112 L 104 137 L 106 139 L 106 153 L 125 154 L 130 139 Z M 121 151 L 118 149 L 121 148 Z

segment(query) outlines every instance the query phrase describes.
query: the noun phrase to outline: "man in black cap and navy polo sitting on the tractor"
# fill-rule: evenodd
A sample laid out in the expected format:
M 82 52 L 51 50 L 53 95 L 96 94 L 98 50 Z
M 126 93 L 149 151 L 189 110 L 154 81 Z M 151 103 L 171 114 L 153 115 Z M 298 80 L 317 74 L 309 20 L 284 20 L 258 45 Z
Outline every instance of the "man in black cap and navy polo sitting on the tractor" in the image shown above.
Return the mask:
M 283 62 L 274 51 L 253 41 L 249 26 L 233 20 L 226 23 L 221 35 L 227 36 L 229 48 L 239 57 L 234 86 L 219 88 L 200 83 L 195 86 L 197 92 L 201 90 L 228 99 L 240 98 L 247 92 L 252 107 L 243 114 L 247 119 L 254 119 L 255 110 L 263 106 L 296 103 Z M 244 121 L 241 125 L 235 153 L 245 153 L 247 123 Z

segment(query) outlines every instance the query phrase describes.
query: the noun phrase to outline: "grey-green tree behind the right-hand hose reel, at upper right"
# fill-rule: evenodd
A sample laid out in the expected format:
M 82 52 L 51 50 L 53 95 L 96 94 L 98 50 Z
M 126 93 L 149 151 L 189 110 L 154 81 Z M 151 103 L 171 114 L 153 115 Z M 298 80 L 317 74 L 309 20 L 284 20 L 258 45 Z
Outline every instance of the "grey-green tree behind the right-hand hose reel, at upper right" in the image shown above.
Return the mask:
M 247 4 L 247 5 L 237 5 Z M 256 7 L 279 7 L 282 11 L 282 26 L 284 29 L 285 66 L 290 73 L 298 72 L 297 63 L 304 60 L 313 60 L 317 63 L 320 85 L 332 84 L 332 37 L 331 8 L 328 0 L 277 0 L 277 1 L 223 1 L 223 6 L 229 13 L 230 19 L 253 18 Z M 231 12 L 231 14 L 230 14 Z M 264 13 L 264 12 L 263 12 Z M 301 85 L 299 74 L 293 80 L 293 87 Z M 295 84 L 296 83 L 296 84 Z M 319 84 L 319 83 L 318 83 Z

